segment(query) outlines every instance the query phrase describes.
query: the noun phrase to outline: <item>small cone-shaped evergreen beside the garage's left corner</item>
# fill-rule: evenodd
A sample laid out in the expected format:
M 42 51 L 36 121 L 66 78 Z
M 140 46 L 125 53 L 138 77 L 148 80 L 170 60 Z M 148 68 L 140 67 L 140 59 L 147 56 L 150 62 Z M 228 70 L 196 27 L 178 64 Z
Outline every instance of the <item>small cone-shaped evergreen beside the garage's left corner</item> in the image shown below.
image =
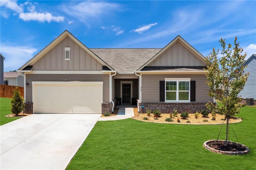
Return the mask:
M 11 100 L 11 111 L 13 114 L 18 116 L 20 112 L 23 111 L 25 107 L 25 100 L 18 91 L 18 87 L 13 92 L 13 99 Z

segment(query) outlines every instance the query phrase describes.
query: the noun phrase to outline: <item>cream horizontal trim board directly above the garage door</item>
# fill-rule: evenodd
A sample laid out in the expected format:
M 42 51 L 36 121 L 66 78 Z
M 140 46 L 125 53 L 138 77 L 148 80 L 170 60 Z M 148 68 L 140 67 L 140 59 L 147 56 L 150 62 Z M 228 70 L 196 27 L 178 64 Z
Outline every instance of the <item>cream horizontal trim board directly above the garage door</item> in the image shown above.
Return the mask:
M 98 85 L 98 84 L 103 84 L 103 82 L 78 82 L 78 81 L 73 81 L 73 82 L 68 82 L 68 81 L 61 81 L 61 82 L 56 82 L 56 81 L 32 81 L 32 84 L 56 84 L 56 85 Z

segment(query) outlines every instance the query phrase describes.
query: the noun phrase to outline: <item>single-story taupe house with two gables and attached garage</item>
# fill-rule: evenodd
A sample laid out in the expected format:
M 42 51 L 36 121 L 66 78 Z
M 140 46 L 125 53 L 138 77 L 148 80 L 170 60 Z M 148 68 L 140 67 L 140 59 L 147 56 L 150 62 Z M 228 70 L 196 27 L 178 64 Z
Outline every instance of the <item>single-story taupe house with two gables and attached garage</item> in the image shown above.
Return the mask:
M 18 69 L 26 113 L 105 113 L 119 100 L 162 113 L 206 109 L 202 54 L 177 36 L 163 49 L 89 49 L 65 30 Z

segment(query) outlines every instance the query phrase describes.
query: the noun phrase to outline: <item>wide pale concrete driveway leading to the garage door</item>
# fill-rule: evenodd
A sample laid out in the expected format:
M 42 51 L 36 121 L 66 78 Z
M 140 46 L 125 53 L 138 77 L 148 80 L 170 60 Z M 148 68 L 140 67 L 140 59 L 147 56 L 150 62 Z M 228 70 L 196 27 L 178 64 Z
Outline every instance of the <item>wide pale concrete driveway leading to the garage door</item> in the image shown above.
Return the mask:
M 100 114 L 33 114 L 0 126 L 0 169 L 65 169 Z

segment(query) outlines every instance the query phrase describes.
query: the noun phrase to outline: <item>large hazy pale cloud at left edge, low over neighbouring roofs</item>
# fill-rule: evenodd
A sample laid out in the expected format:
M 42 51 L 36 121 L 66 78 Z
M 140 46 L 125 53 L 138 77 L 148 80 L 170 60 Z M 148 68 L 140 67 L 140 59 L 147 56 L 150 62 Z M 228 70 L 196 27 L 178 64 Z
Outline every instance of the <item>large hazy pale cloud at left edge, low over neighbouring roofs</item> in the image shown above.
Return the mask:
M 16 44 L 1 44 L 1 54 L 5 57 L 4 70 L 17 70 L 34 56 L 37 49 Z

